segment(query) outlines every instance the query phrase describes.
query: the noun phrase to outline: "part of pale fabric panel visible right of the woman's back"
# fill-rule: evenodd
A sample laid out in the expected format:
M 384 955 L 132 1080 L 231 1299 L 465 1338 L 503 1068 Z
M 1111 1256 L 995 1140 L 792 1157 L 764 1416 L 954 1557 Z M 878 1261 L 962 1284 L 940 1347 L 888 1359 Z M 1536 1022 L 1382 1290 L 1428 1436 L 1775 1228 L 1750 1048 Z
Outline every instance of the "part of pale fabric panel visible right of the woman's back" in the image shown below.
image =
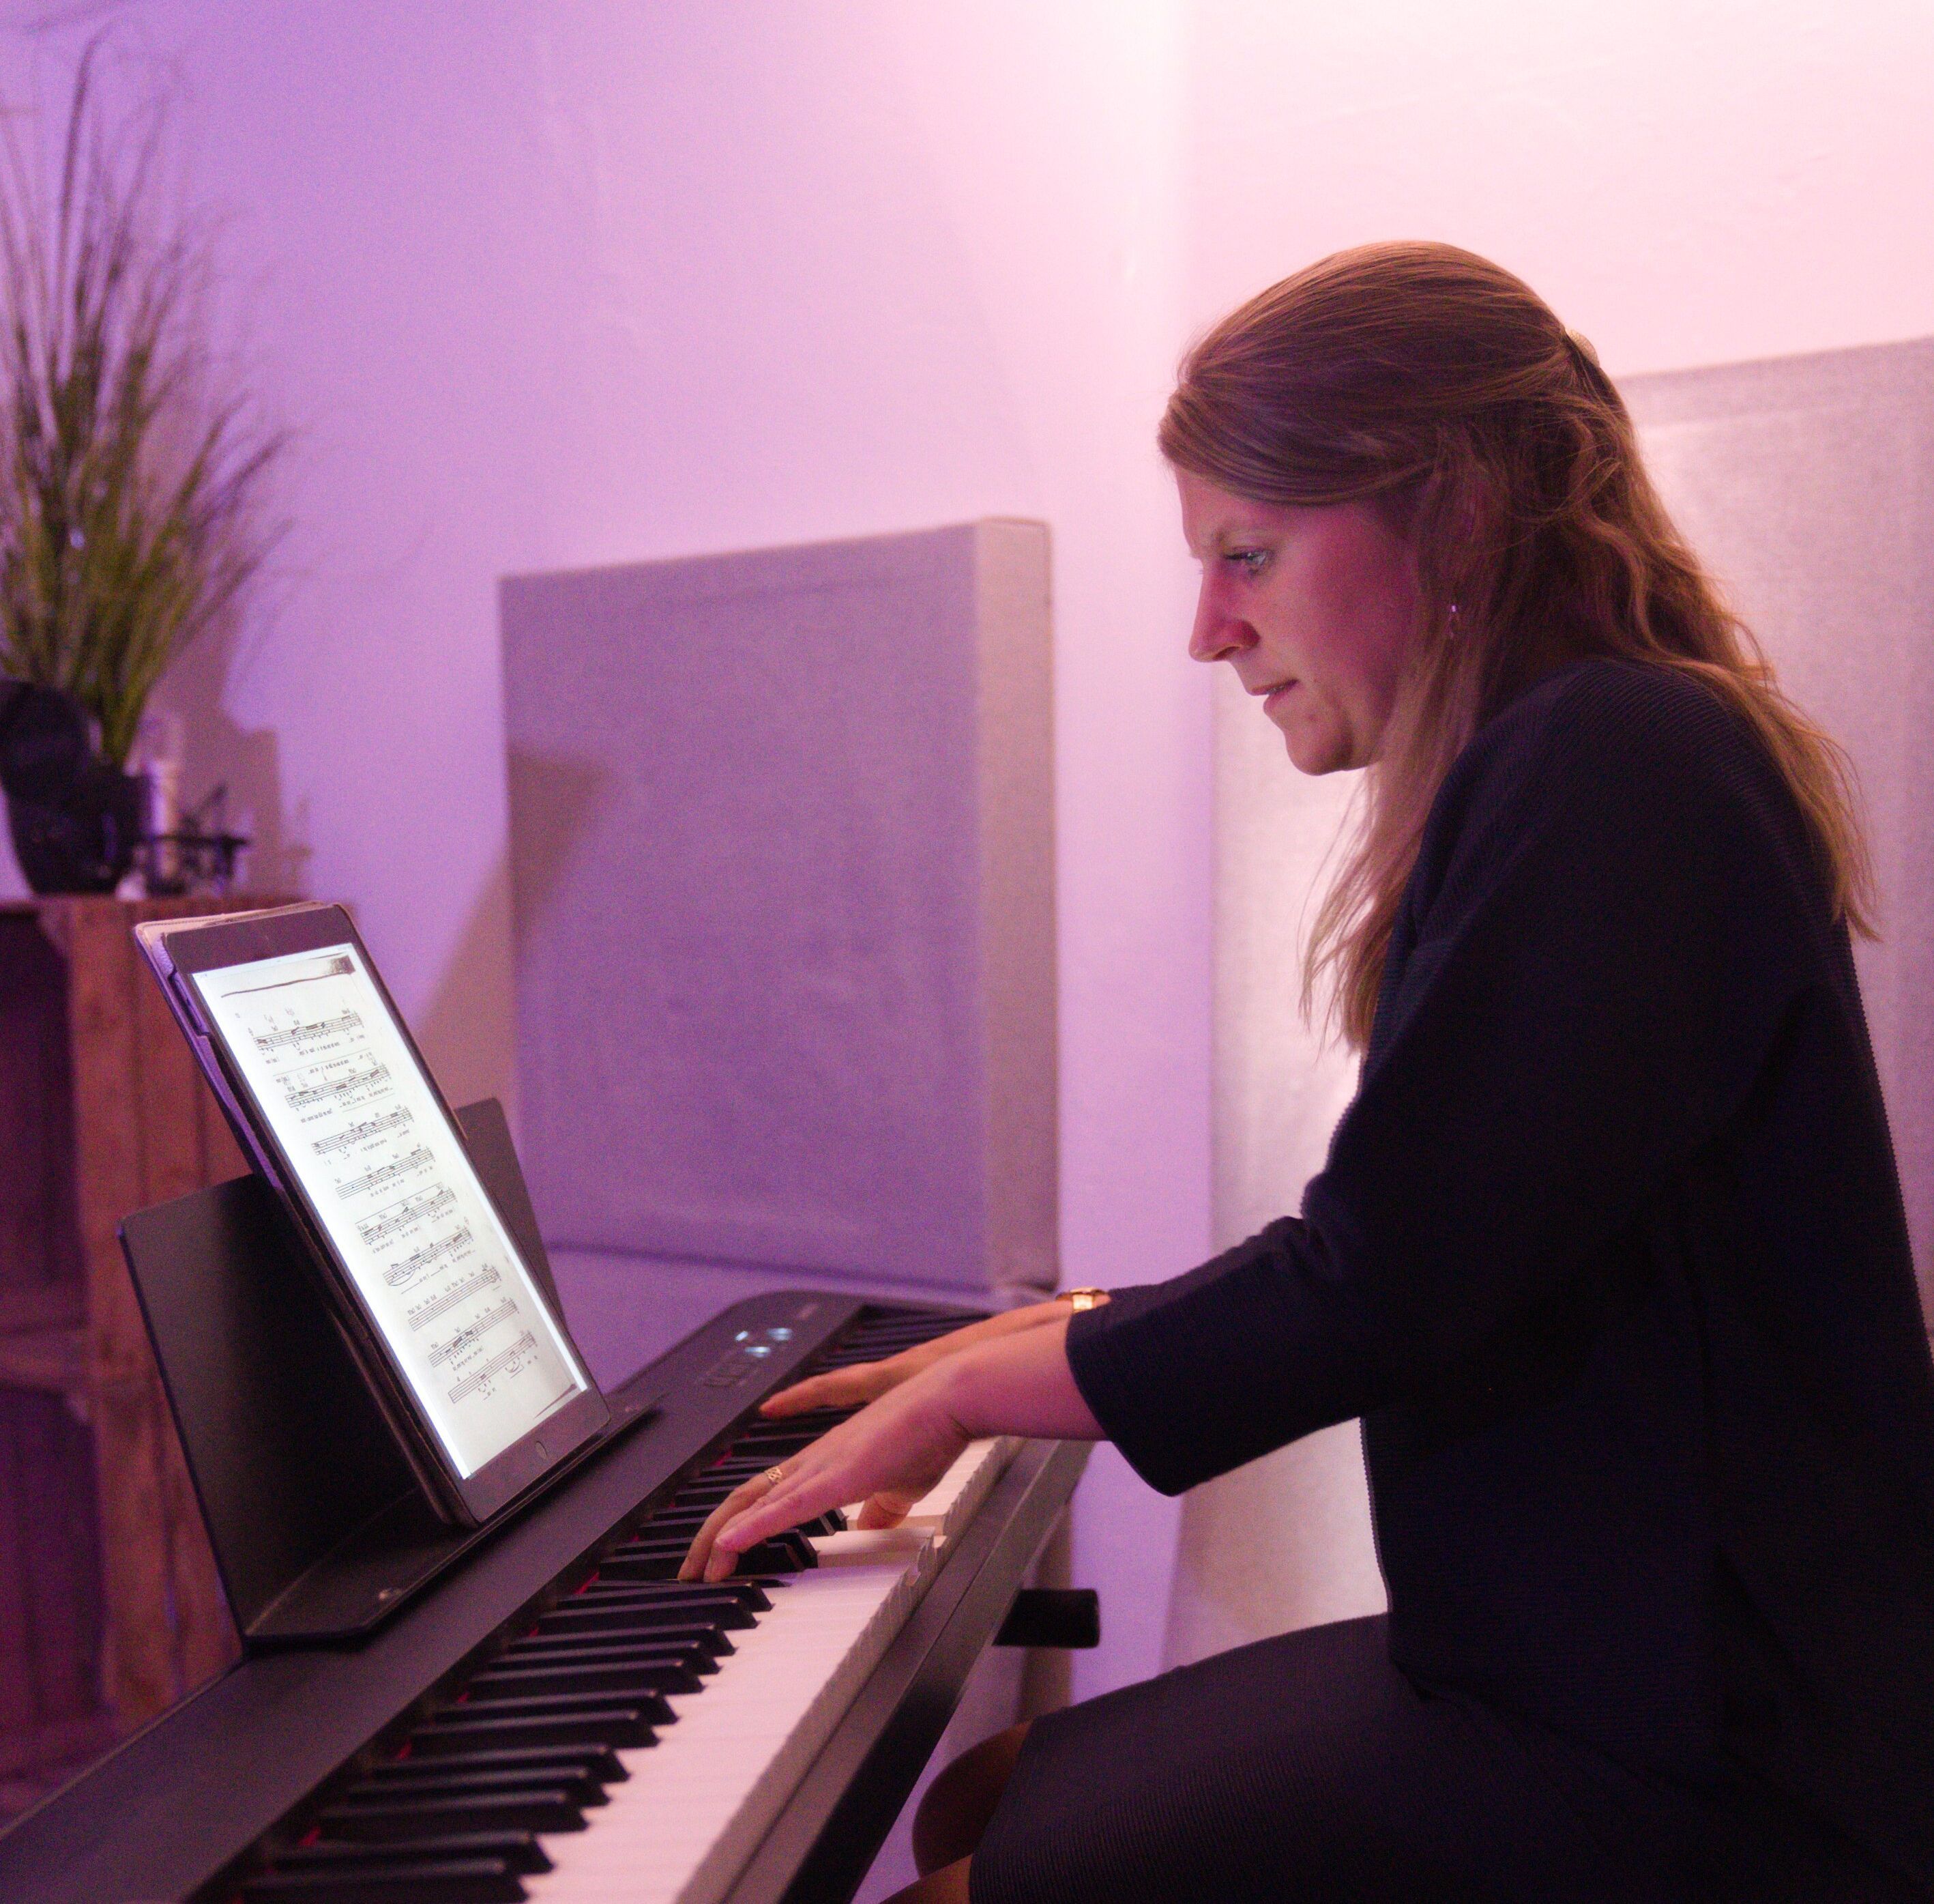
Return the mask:
M 1632 377 L 1665 501 L 1851 753 L 1880 875 L 1861 985 L 1934 1294 L 1934 339 Z

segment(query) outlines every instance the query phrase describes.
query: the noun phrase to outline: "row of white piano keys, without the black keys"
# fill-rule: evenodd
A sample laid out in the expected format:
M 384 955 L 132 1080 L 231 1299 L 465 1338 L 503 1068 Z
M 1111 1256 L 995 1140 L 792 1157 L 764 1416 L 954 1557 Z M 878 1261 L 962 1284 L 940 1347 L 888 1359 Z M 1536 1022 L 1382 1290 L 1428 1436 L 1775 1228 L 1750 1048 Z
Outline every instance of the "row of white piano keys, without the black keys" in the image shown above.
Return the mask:
M 553 1869 L 524 1879 L 534 1904 L 716 1904 L 1017 1445 L 975 1442 L 901 1527 L 816 1538 L 820 1565 L 772 1591 L 702 1691 L 671 1697 L 677 1724 L 619 1753 L 630 1776 L 609 1803 L 545 1836 Z

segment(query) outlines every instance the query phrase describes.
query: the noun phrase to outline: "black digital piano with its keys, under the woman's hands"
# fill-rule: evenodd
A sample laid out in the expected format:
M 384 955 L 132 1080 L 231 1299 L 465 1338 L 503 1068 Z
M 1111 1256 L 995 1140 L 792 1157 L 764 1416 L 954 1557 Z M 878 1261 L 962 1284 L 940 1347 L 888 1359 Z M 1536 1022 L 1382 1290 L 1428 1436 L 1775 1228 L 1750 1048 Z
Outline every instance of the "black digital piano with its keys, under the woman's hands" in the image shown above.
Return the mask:
M 967 1320 L 810 1293 L 727 1310 L 627 1385 L 658 1401 L 652 1420 L 422 1606 L 358 1647 L 246 1658 L 0 1836 L 0 1904 L 849 1890 L 834 1869 L 857 1883 L 870 1846 L 826 1761 L 843 1751 L 853 1788 L 872 1767 L 876 1844 L 919 1770 L 895 1743 L 901 1703 L 919 1705 L 921 1672 L 932 1678 L 975 1596 L 981 1641 L 992 1635 L 1079 1459 L 1044 1480 L 1052 1443 L 1031 1467 L 1017 1443 L 977 1443 L 903 1529 L 849 1532 L 835 1513 L 754 1548 L 729 1581 L 675 1575 L 733 1486 L 843 1418 L 764 1422 L 760 1399 Z M 1025 1511 L 975 1525 L 1010 1465 L 1027 1469 L 1006 1482 Z M 965 1664 L 948 1666 L 955 1697 Z M 863 1693 L 899 1680 L 859 1724 Z M 938 1736 L 930 1711 L 923 1726 Z M 799 1801 L 814 1784 L 816 1827 Z M 797 1856 L 774 1852 L 787 1830 Z

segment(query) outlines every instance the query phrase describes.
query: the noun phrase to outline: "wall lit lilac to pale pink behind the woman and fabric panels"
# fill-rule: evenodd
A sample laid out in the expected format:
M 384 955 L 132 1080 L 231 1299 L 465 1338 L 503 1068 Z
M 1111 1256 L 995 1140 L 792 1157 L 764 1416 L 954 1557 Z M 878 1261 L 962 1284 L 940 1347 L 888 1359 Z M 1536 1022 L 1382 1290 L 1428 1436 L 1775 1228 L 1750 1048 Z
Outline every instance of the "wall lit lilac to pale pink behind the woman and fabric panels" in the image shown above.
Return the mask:
M 453 1095 L 509 1086 L 499 575 L 1052 524 L 1071 1281 L 1209 1236 L 1209 718 L 1149 447 L 1186 333 L 1406 232 L 1495 252 L 1615 372 L 1934 329 L 1919 0 L 116 14 L 304 430 L 209 745 L 273 757 Z M 8 89 L 75 45 L 8 35 Z M 1085 1683 L 1155 1662 L 1170 1527 L 1097 1465 Z

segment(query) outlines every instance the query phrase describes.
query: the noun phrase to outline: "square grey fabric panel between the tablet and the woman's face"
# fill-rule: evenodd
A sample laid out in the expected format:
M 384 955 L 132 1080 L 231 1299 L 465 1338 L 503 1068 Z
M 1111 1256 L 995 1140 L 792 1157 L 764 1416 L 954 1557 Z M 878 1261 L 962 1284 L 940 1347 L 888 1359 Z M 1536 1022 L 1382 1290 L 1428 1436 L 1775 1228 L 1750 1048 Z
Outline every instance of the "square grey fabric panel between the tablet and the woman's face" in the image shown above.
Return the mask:
M 1048 544 L 503 584 L 553 1246 L 1052 1285 Z

